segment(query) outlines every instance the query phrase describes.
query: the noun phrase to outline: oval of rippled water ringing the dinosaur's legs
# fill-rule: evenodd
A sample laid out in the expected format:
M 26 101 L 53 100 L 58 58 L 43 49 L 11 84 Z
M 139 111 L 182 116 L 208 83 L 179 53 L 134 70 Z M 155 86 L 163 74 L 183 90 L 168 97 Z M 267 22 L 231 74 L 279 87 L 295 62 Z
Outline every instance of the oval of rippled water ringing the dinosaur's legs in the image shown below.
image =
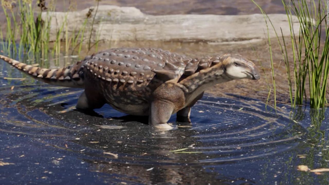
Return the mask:
M 0 89 L 0 131 L 119 163 L 202 166 L 251 160 L 292 150 L 306 133 L 286 112 L 266 110 L 264 103 L 250 98 L 206 95 L 192 109 L 191 124 L 155 132 L 146 125 L 147 118 L 110 106 L 88 114 L 74 110 L 81 90 L 22 85 L 14 92 Z M 175 116 L 169 122 L 175 125 Z

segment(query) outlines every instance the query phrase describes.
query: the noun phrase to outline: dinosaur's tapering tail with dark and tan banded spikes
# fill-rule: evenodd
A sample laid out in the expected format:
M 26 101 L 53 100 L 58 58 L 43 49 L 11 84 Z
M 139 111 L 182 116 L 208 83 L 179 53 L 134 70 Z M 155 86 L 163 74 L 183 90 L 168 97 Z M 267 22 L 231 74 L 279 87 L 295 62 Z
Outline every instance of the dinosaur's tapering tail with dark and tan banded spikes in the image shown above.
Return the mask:
M 48 84 L 72 88 L 85 87 L 83 70 L 84 62 L 82 61 L 64 68 L 47 69 L 27 65 L 3 55 L 0 55 L 0 59 L 13 65 L 15 68 L 24 71 L 29 76 Z

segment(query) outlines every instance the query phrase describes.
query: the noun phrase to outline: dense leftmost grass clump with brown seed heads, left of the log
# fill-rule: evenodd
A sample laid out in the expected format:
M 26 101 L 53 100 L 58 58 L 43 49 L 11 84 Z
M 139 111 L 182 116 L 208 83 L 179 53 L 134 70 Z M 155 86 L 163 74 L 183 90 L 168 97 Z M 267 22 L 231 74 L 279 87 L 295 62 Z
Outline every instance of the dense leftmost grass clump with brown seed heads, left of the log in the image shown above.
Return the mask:
M 45 6 L 39 6 L 41 11 L 46 10 Z M 1 0 L 1 6 L 7 20 L 6 37 L 8 51 L 15 53 L 33 52 L 47 55 L 49 49 L 49 22 L 41 20 L 41 13 L 35 16 L 31 0 L 9 1 Z M 16 12 L 14 12 L 16 8 Z M 16 17 L 18 20 L 16 20 Z M 3 37 L 3 35 L 1 35 Z M 19 44 L 16 41 L 19 40 Z

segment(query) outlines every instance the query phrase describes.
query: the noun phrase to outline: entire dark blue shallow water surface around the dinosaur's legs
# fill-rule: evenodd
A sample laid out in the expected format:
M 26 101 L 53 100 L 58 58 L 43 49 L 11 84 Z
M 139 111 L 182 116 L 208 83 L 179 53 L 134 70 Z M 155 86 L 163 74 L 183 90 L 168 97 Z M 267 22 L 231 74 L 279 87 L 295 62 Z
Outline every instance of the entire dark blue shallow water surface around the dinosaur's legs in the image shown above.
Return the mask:
M 147 118 L 104 106 L 74 110 L 80 89 L 25 78 L 0 61 L 1 184 L 328 184 L 328 109 L 277 111 L 264 102 L 205 95 L 191 124 L 157 132 Z M 13 88 L 13 89 L 12 89 Z M 312 112 L 312 114 L 310 114 Z M 184 149 L 181 151 L 175 151 Z

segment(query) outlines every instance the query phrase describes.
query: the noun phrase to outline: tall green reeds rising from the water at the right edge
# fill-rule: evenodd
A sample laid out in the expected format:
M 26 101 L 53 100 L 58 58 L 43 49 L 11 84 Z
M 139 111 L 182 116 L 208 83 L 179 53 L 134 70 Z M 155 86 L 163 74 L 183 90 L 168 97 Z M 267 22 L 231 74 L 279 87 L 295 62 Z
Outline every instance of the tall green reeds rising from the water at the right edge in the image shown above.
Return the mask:
M 251 1 L 261 10 L 265 19 L 269 20 L 264 10 L 254 0 Z M 282 30 L 279 37 L 270 20 L 269 22 L 276 33 L 285 62 L 291 106 L 302 105 L 304 101 L 307 101 L 308 95 L 311 108 L 323 108 L 327 103 L 326 93 L 329 76 L 329 31 L 325 20 L 326 4 L 319 1 L 316 5 L 314 0 L 309 3 L 307 0 L 291 0 L 289 4 L 282 0 L 282 4 L 288 17 L 287 26 L 290 28 L 291 48 L 287 47 Z M 294 16 L 292 15 L 295 15 L 299 22 L 298 35 L 294 31 Z M 324 25 L 325 33 L 322 33 Z M 323 34 L 325 35 L 324 41 L 321 39 Z M 271 45 L 269 45 L 269 50 L 272 50 Z M 292 51 L 292 56 L 288 54 L 289 51 Z M 273 71 L 272 64 L 273 61 L 271 60 Z M 273 85 L 275 86 L 274 83 Z M 308 92 L 306 92 L 307 89 Z

